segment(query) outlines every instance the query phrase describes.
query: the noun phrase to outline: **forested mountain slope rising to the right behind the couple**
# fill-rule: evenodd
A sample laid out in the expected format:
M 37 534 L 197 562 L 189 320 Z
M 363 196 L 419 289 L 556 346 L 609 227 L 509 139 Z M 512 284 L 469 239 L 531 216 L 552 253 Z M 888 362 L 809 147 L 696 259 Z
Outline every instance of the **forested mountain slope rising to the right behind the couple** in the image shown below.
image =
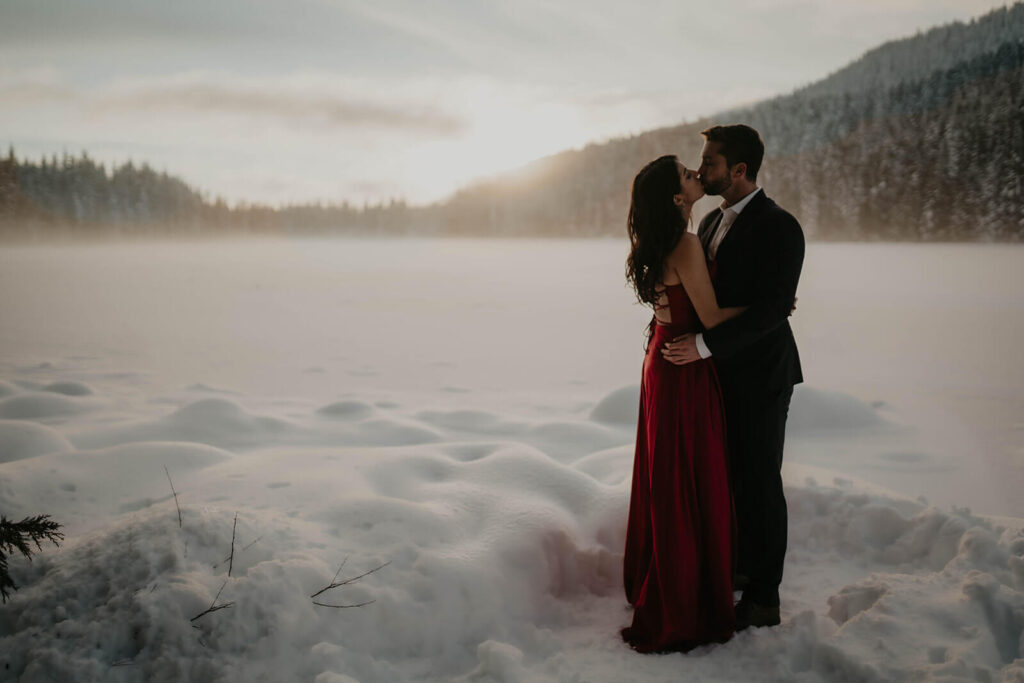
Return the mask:
M 458 232 L 622 233 L 635 172 L 660 154 L 695 163 L 714 121 L 762 132 L 760 180 L 811 238 L 1021 240 L 1022 70 L 1018 3 L 883 45 L 788 95 L 541 160 L 457 194 L 442 222 Z

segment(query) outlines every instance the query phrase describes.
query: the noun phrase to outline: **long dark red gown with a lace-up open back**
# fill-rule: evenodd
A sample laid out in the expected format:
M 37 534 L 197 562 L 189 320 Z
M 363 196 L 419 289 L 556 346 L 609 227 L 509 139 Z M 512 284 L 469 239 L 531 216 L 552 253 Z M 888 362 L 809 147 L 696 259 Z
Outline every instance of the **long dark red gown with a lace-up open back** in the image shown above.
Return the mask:
M 623 579 L 634 607 L 623 639 L 641 652 L 687 650 L 732 636 L 733 510 L 725 407 L 710 359 L 662 356 L 701 330 L 681 285 L 668 287 L 670 325 L 656 325 L 643 362 Z

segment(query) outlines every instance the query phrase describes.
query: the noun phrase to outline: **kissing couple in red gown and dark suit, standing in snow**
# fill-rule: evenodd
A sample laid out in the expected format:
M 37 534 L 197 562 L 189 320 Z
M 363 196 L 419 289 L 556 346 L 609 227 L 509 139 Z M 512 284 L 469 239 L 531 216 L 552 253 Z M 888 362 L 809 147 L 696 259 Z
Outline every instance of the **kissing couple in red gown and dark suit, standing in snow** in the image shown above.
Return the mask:
M 757 184 L 758 131 L 701 135 L 697 169 L 675 156 L 641 169 L 628 219 L 627 280 L 653 309 L 623 561 L 633 622 L 621 633 L 641 652 L 780 623 L 782 450 L 803 381 L 788 316 L 804 234 Z M 706 194 L 722 203 L 694 234 Z

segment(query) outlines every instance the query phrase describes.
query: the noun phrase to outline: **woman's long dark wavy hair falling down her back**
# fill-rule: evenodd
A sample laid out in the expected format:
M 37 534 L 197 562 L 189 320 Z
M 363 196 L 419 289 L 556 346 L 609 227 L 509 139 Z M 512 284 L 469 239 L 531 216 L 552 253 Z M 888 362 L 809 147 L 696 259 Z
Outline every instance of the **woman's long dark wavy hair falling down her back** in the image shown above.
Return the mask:
M 686 219 L 673 201 L 683 190 L 678 163 L 675 155 L 658 157 L 633 179 L 626 280 L 643 303 L 657 301 L 665 260 L 686 231 Z

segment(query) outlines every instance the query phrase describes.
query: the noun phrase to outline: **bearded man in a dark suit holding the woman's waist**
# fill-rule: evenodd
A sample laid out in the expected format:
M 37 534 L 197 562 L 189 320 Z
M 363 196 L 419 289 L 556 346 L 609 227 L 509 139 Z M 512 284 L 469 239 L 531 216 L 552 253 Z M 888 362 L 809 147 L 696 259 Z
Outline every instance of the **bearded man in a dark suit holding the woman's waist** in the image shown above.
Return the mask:
M 757 184 L 764 142 L 756 130 L 714 126 L 701 135 L 700 181 L 722 205 L 705 216 L 697 236 L 714 264 L 718 304 L 749 308 L 702 334 L 676 338 L 663 353 L 678 365 L 710 356 L 718 371 L 736 509 L 738 631 L 779 623 L 786 544 L 782 446 L 793 387 L 803 381 L 788 315 L 804 233 Z

